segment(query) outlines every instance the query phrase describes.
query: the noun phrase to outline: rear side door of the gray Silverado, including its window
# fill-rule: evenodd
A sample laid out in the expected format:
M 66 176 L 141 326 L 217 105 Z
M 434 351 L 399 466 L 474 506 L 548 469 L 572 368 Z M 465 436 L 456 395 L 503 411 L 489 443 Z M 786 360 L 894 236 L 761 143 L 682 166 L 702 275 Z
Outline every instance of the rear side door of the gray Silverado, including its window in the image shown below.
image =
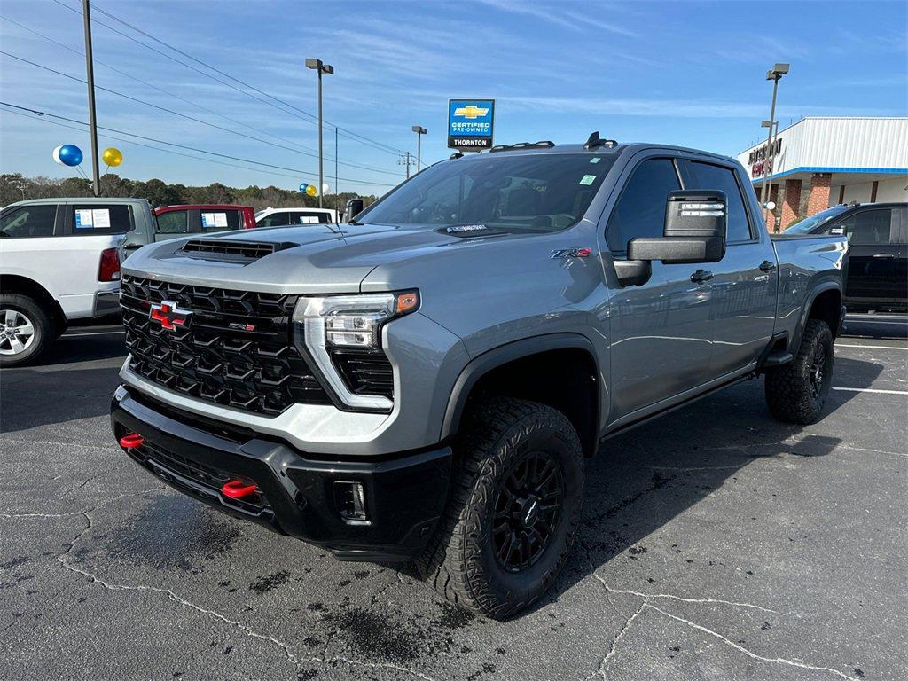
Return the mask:
M 748 210 L 749 183 L 735 165 L 713 158 L 680 162 L 686 187 L 719 189 L 728 201 L 725 257 L 704 265 L 713 273 L 713 349 L 709 377 L 717 379 L 759 359 L 775 328 L 778 281 L 769 235 L 757 228 L 759 217 Z M 750 204 L 753 207 L 753 204 Z

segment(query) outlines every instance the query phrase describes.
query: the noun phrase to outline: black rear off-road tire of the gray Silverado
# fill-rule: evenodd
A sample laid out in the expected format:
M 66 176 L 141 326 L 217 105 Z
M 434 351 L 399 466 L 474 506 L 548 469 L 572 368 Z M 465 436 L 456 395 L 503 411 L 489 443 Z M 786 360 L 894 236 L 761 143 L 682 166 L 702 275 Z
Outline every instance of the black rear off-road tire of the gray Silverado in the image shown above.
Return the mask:
M 817 390 L 815 372 L 822 369 Z M 766 372 L 766 404 L 780 421 L 807 425 L 823 412 L 833 378 L 833 332 L 825 321 L 808 320 L 795 360 Z

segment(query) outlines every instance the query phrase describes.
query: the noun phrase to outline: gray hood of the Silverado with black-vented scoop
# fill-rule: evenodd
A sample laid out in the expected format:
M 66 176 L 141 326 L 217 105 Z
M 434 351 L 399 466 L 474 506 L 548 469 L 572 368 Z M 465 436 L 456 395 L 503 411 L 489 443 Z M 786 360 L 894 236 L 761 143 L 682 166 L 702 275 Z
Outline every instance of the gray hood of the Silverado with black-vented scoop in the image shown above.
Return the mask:
M 347 293 L 376 267 L 425 259 L 475 242 L 515 238 L 508 234 L 454 236 L 428 225 L 321 225 L 274 227 L 218 234 L 194 234 L 158 242 L 134 252 L 123 272 L 164 281 L 277 293 Z M 202 240 L 268 243 L 275 252 L 258 260 L 219 260 L 183 252 L 186 242 Z

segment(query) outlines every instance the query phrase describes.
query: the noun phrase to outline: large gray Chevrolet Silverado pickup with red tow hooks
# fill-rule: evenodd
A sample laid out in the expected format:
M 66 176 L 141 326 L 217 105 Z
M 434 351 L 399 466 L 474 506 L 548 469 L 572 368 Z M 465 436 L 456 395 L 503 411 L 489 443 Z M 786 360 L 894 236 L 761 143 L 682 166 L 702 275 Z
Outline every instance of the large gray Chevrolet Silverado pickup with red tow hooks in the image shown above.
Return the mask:
M 604 440 L 761 375 L 775 418 L 820 418 L 846 263 L 844 237 L 770 237 L 724 156 L 455 153 L 346 224 L 135 252 L 114 436 L 214 508 L 508 617 L 567 559 Z

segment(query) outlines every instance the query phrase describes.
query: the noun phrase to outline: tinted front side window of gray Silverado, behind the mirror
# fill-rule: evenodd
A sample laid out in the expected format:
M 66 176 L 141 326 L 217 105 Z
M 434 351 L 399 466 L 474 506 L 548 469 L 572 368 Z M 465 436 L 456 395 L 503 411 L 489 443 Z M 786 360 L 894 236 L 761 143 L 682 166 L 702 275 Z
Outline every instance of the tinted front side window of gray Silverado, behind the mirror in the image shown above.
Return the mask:
M 608 218 L 608 248 L 624 252 L 636 236 L 662 236 L 668 192 L 678 189 L 681 184 L 671 161 L 656 158 L 640 163 Z

